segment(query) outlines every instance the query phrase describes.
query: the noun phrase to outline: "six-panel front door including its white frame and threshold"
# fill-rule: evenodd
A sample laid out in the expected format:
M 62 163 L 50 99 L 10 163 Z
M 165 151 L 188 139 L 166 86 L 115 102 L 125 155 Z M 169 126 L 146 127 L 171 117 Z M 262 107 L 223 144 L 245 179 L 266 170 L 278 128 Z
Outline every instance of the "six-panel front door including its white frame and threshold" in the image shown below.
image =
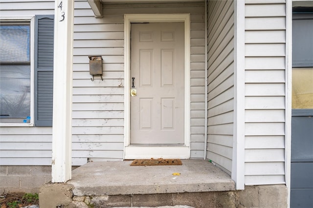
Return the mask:
M 127 14 L 124 21 L 124 158 L 188 159 L 190 14 Z

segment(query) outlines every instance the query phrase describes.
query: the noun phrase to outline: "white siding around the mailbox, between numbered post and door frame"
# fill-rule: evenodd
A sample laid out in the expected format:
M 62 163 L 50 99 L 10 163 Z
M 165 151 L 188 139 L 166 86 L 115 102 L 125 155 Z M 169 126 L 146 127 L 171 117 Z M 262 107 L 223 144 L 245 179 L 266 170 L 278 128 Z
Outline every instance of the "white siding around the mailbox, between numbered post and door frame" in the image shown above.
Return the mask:
M 122 160 L 124 151 L 123 15 L 94 18 L 87 1 L 74 4 L 72 157 Z M 103 81 L 90 80 L 88 56 L 103 58 Z M 82 165 L 82 164 L 78 164 Z

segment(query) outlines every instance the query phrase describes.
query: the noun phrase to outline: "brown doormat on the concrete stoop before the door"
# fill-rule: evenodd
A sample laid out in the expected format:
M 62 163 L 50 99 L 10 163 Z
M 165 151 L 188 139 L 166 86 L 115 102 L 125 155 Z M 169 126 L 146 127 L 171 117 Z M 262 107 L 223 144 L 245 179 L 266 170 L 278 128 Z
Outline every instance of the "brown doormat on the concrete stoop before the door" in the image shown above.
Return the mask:
M 179 159 L 142 159 L 134 160 L 131 166 L 179 166 L 182 165 Z

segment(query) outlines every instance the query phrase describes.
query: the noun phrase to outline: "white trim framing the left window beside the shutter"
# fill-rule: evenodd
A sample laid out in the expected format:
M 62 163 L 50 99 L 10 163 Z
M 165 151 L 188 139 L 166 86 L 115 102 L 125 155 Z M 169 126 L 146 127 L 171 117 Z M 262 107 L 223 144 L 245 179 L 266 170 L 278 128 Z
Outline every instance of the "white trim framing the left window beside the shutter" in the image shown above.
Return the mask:
M 34 126 L 34 47 L 35 17 L 0 17 L 1 22 L 28 22 L 30 26 L 30 123 L 0 123 L 0 126 Z

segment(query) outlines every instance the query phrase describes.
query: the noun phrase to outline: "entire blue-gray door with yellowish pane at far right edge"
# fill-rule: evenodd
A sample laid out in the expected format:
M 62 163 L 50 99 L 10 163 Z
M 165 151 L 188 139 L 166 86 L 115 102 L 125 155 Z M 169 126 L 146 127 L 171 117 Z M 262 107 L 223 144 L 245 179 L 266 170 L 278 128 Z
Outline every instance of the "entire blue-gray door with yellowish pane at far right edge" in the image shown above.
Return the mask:
M 291 208 L 313 208 L 313 8 L 292 16 Z M 309 13 L 308 13 L 309 12 Z

